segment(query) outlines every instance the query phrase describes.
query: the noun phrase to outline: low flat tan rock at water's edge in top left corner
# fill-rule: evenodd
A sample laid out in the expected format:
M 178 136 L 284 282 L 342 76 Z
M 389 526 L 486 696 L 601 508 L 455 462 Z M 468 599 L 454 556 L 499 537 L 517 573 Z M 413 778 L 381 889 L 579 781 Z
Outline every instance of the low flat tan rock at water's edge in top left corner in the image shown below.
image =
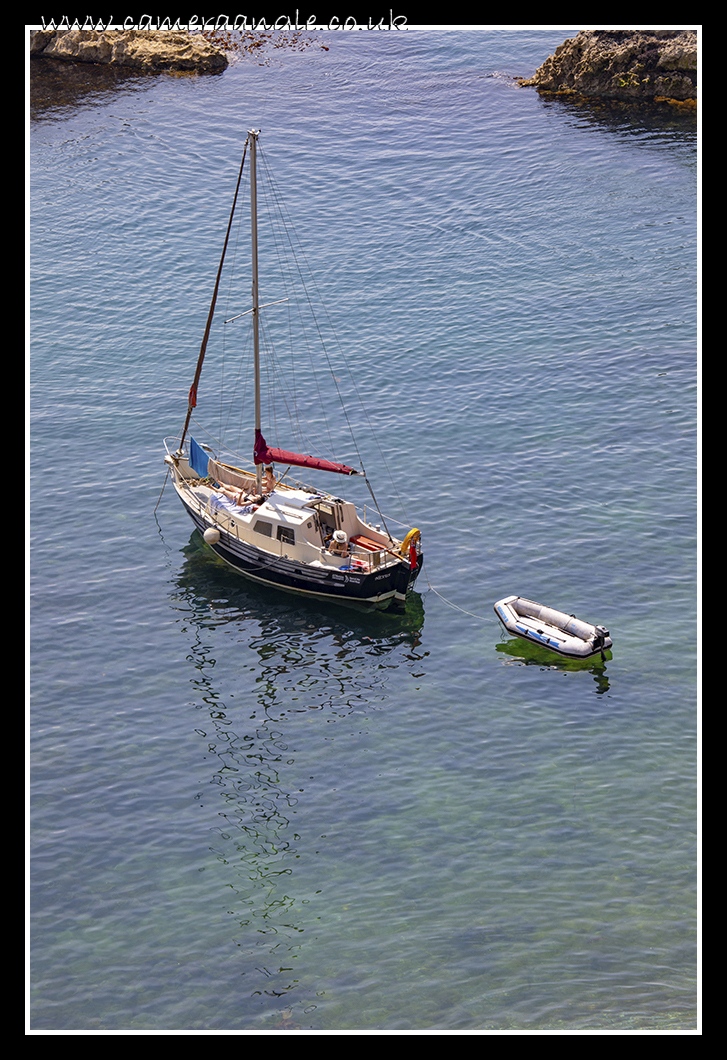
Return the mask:
M 97 63 L 137 70 L 224 70 L 225 52 L 199 33 L 176 30 L 36 30 L 31 55 L 69 63 Z

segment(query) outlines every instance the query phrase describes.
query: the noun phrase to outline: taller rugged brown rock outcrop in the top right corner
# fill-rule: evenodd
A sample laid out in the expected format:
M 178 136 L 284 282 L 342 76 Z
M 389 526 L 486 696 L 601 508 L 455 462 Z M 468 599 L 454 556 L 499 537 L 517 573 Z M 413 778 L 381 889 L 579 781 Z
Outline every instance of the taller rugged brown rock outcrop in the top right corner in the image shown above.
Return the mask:
M 582 30 L 520 84 L 607 100 L 695 103 L 696 32 Z

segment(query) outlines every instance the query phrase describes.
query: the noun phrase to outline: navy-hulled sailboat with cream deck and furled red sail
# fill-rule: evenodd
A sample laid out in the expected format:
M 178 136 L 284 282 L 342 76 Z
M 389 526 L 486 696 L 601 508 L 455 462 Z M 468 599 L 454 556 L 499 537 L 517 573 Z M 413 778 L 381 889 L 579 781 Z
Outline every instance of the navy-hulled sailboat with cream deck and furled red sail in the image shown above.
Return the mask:
M 185 511 L 207 545 L 236 572 L 262 585 L 366 608 L 403 606 L 424 562 L 421 532 L 378 510 L 365 470 L 335 460 L 268 445 L 261 402 L 261 319 L 285 299 L 261 303 L 258 253 L 258 160 L 260 130 L 248 132 L 230 211 L 217 279 L 189 392 L 180 437 L 165 439 L 164 461 Z M 223 446 L 197 441 L 190 424 L 197 407 L 207 352 L 243 171 L 249 154 L 254 422 L 252 465 Z M 195 423 L 197 413 L 195 413 Z M 267 427 L 265 428 L 268 432 Z M 195 428 L 196 430 L 196 428 Z M 362 476 L 373 500 L 362 512 L 337 491 L 291 477 L 298 469 L 345 477 Z M 326 474 L 326 478 L 327 478 Z M 401 528 L 400 528 L 401 527 Z

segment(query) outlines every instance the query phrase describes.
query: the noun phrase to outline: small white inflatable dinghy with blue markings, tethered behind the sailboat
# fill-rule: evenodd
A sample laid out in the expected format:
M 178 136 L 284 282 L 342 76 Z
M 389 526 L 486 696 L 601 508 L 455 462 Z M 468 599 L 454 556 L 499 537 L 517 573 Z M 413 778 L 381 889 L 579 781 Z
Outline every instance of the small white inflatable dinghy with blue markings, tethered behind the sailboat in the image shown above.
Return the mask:
M 495 614 L 508 633 L 569 658 L 586 659 L 599 652 L 603 655 L 614 643 L 605 626 L 582 622 L 574 615 L 545 607 L 525 597 L 498 600 Z

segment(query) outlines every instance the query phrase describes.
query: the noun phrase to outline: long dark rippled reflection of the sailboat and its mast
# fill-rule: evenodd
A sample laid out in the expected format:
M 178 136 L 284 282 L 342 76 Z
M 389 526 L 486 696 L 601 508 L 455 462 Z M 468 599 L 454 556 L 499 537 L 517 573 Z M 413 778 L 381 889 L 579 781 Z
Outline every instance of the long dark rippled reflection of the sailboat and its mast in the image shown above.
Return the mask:
M 369 761 L 367 717 L 397 702 L 398 670 L 425 665 L 422 600 L 409 594 L 405 612 L 330 607 L 230 579 L 196 533 L 183 554 L 178 569 L 171 553 L 190 673 L 180 710 L 198 746 L 191 796 L 227 896 L 224 930 L 247 975 L 248 1018 L 256 999 L 261 1018 L 278 1000 L 302 1009 L 315 997 L 291 958 L 316 934 L 323 886 L 312 822 L 352 812 L 344 789 L 355 762 Z M 356 829 L 350 836 L 355 845 Z

